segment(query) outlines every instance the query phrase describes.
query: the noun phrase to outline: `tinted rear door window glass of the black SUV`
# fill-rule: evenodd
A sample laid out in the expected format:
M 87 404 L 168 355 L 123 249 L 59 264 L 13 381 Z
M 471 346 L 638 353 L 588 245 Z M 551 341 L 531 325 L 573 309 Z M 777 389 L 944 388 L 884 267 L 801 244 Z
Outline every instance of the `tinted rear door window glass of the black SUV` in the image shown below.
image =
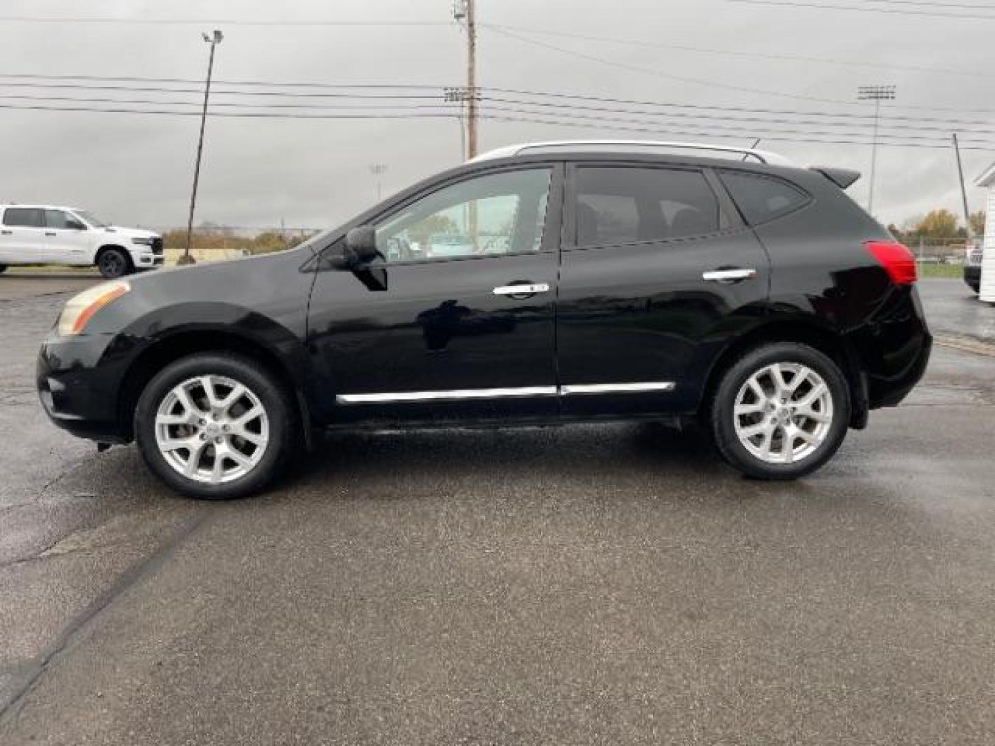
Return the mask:
M 578 247 L 669 241 L 725 227 L 700 171 L 581 166 L 574 184 Z

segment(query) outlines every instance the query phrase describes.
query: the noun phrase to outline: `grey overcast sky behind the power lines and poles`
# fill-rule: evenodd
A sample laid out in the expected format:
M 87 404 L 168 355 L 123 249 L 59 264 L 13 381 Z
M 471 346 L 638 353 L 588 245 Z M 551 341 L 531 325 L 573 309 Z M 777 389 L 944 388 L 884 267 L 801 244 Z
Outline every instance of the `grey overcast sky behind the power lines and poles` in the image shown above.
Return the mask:
M 805 0 L 817 1 L 825 0 Z M 864 0 L 840 0 L 835 4 L 868 5 Z M 768 111 L 849 111 L 854 118 L 847 126 L 806 123 L 779 128 L 809 133 L 816 129 L 846 132 L 847 136 L 842 139 L 867 141 L 870 139 L 867 115 L 873 109 L 867 104 L 857 106 L 845 102 L 856 98 L 858 86 L 894 84 L 898 95 L 896 106 L 944 110 L 886 107 L 886 128 L 890 113 L 906 117 L 894 119 L 893 124 L 936 127 L 935 130 L 886 131 L 910 133 L 926 137 L 925 141 L 937 142 L 938 139 L 933 138 L 948 136 L 950 119 L 978 122 L 964 125 L 965 128 L 995 130 L 995 126 L 989 124 L 995 123 L 995 63 L 991 57 L 995 13 L 992 20 L 954 20 L 895 13 L 806 10 L 727 0 L 616 0 L 611 3 L 478 0 L 478 6 L 479 21 L 485 24 L 479 35 L 478 85 L 484 88 Z M 0 70 L 7 75 L 202 79 L 208 45 L 201 41 L 200 32 L 211 28 L 211 20 L 282 20 L 306 23 L 293 26 L 223 25 L 225 40 L 218 48 L 215 77 L 242 82 L 461 85 L 465 76 L 464 37 L 458 27 L 449 23 L 451 13 L 452 0 L 282 0 L 280 3 L 263 0 L 88 0 L 87 3 L 78 0 L 4 0 L 0 4 L 0 16 L 4 18 L 113 17 L 143 21 L 204 19 L 205 22 L 128 25 L 3 20 L 0 21 L 0 33 L 3 34 Z M 411 21 L 438 25 L 316 25 L 315 22 L 320 21 Z M 488 28 L 488 24 L 492 28 Z M 502 35 L 494 25 L 648 44 L 617 44 L 513 32 L 537 42 L 528 44 Z M 550 49 L 550 46 L 575 54 Z M 726 54 L 677 47 L 707 48 Z M 814 57 L 852 65 L 752 55 Z M 587 59 L 590 57 L 611 64 Z M 908 68 L 942 69 L 950 73 Z M 696 79 L 700 83 L 679 81 L 674 77 Z M 0 97 L 5 99 L 0 103 L 73 105 L 11 98 L 13 95 L 155 98 L 192 103 L 198 99 L 197 93 L 193 92 L 26 89 L 11 87 L 9 84 L 14 82 L 14 79 L 0 78 L 3 93 Z M 141 87 L 147 84 L 116 85 Z M 215 96 L 213 100 L 258 102 L 264 99 Z M 562 106 L 552 109 L 553 115 L 577 114 L 576 109 L 571 110 L 568 99 L 548 100 Z M 265 102 L 300 101 L 275 96 Z M 328 105 L 329 99 L 306 99 L 304 102 Z M 412 102 L 418 101 L 407 103 Z M 397 101 L 388 101 L 387 105 L 395 103 Z M 354 104 L 355 101 L 351 101 L 349 105 Z M 105 107 L 108 104 L 90 105 Z M 641 108 L 633 104 L 617 104 L 617 107 Z M 196 110 L 195 105 L 165 108 Z M 701 112 L 700 109 L 663 110 L 685 114 Z M 714 111 L 704 113 L 716 116 Z M 760 116 L 749 112 L 737 115 Z M 632 113 L 618 116 L 650 118 Z M 770 118 L 771 114 L 762 116 Z M 793 118 L 823 121 L 820 117 Z M 659 138 L 667 138 L 668 130 L 694 131 L 711 136 L 674 138 L 749 144 L 754 134 L 751 127 L 759 128 L 760 134 L 778 128 L 732 119 L 731 114 L 724 121 L 688 116 L 684 119 L 661 118 L 657 125 Z M 929 119 L 938 121 L 927 121 Z M 198 126 L 196 116 L 4 108 L 0 113 L 0 152 L 3 154 L 0 200 L 79 205 L 119 224 L 183 225 Z M 741 136 L 737 130 L 741 131 Z M 863 134 L 854 137 L 854 132 Z M 715 136 L 718 134 L 723 136 Z M 593 127 L 493 120 L 481 124 L 482 149 L 535 139 L 612 136 L 654 135 L 613 129 L 612 122 Z M 806 138 L 805 134 L 783 136 Z M 972 141 L 981 145 L 986 141 L 995 143 L 995 134 L 965 134 L 963 141 L 967 145 Z M 853 188 L 853 193 L 859 201 L 865 201 L 870 146 L 767 139 L 761 147 L 783 152 L 803 164 L 839 165 L 863 171 L 865 179 Z M 885 222 L 901 222 L 936 206 L 945 206 L 960 214 L 956 167 L 950 149 L 882 147 L 879 153 L 876 211 L 879 218 Z M 387 166 L 381 177 L 386 194 L 459 160 L 460 130 L 455 118 L 209 118 L 197 222 L 276 226 L 285 221 L 288 226 L 328 226 L 358 212 L 375 199 L 376 177 L 370 173 L 370 164 Z M 973 182 L 992 160 L 995 160 L 995 147 L 965 151 L 964 165 L 969 182 Z M 973 186 L 969 199 L 973 210 L 981 208 L 980 191 Z

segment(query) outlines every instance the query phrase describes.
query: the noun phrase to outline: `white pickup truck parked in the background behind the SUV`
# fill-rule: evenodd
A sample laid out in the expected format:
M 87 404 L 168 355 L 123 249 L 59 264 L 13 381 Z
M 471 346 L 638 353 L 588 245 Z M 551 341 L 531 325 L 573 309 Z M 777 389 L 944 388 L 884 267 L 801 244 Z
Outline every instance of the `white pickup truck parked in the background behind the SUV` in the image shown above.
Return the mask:
M 105 278 L 162 266 L 162 238 L 51 205 L 0 205 L 0 272 L 13 265 L 97 267 Z

